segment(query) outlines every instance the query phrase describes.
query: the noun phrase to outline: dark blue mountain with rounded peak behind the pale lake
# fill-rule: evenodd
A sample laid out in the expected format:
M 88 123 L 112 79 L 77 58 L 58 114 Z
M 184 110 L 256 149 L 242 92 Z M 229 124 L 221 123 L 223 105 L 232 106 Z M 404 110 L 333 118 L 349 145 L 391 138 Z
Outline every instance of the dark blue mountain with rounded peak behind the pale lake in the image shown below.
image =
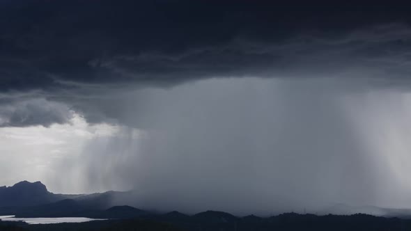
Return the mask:
M 127 192 L 117 191 L 80 195 L 54 194 L 47 191 L 46 186 L 41 182 L 24 181 L 10 187 L 0 187 L 0 216 L 12 214 L 16 217 L 33 218 L 60 216 L 108 218 L 113 215 L 110 218 L 130 218 L 135 215 L 130 211 L 105 212 L 114 203 L 114 198 L 126 197 Z

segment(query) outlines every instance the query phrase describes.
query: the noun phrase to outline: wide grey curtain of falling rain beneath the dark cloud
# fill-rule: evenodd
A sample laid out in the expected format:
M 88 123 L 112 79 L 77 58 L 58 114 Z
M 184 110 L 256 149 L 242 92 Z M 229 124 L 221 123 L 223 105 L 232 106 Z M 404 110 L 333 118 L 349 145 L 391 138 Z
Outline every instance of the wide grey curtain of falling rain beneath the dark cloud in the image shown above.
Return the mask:
M 61 173 L 84 191 L 132 190 L 128 203 L 160 211 L 405 207 L 410 100 L 355 79 L 226 78 L 133 90 L 95 103 L 122 126 L 88 141 Z

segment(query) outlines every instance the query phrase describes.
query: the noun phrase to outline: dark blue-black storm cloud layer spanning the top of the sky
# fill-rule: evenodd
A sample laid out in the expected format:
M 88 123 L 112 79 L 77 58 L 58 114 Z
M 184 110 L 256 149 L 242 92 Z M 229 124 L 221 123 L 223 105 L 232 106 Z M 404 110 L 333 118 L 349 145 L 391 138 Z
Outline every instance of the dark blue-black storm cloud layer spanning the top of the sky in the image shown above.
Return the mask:
M 5 1 L 1 90 L 173 86 L 208 77 L 408 80 L 406 8 L 247 1 Z M 395 17 L 394 17 L 395 15 Z M 358 75 L 358 74 L 357 74 Z

